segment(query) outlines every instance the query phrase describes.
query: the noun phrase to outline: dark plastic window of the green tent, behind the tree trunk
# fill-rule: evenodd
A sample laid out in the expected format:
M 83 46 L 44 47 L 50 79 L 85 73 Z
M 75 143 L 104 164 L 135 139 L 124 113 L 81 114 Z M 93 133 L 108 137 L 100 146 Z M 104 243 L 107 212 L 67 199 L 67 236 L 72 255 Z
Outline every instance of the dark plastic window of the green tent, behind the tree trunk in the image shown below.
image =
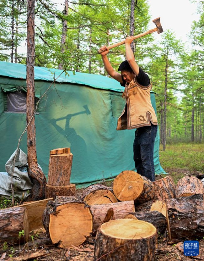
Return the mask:
M 5 93 L 6 99 L 6 112 L 17 112 L 17 113 L 26 113 L 26 92 L 7 92 Z M 35 97 L 35 104 L 37 98 Z

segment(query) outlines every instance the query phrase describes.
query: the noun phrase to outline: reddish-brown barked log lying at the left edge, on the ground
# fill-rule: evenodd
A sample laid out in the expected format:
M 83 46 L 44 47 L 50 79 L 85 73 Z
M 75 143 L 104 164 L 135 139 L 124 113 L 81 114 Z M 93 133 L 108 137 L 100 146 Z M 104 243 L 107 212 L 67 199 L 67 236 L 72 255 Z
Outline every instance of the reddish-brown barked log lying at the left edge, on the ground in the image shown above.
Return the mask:
M 24 230 L 24 236 L 19 238 L 19 232 Z M 0 210 L 0 242 L 7 244 L 28 241 L 29 222 L 26 208 L 5 208 Z

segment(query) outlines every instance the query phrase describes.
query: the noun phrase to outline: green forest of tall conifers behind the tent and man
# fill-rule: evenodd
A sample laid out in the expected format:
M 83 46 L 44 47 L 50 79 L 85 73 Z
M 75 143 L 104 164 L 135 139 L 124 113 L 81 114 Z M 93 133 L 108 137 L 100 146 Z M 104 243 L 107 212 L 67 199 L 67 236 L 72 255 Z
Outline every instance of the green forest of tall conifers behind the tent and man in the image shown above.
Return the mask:
M 192 49 L 170 30 L 134 41 L 134 55 L 156 93 L 160 141 L 204 140 L 204 1 L 196 3 Z M 134 6 L 132 6 L 134 4 Z M 132 8 L 131 8 L 132 6 Z M 134 10 L 134 25 L 130 25 Z M 50 0 L 35 2 L 35 66 L 101 74 L 109 77 L 97 50 L 149 28 L 150 7 L 143 0 L 65 0 L 63 12 Z M 156 17 L 155 17 L 156 18 Z M 173 18 L 172 18 L 173 19 Z M 27 10 L 22 0 L 1 0 L 0 60 L 26 64 Z M 154 25 L 153 25 L 154 27 Z M 153 28 L 152 27 L 152 28 Z M 108 54 L 115 70 L 125 59 L 125 46 Z

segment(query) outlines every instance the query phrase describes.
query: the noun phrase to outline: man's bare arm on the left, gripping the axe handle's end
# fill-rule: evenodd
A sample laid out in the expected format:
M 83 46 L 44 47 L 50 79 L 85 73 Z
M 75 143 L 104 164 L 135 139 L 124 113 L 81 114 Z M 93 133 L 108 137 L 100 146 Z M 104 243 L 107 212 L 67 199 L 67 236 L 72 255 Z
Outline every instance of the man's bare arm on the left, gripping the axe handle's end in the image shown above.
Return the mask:
M 102 56 L 102 59 L 103 59 L 103 63 L 104 63 L 104 67 L 105 67 L 105 70 L 106 72 L 111 76 L 113 77 L 115 80 L 119 81 L 120 83 L 123 83 L 122 81 L 122 76 L 120 73 L 116 72 L 112 65 L 110 64 L 109 62 L 109 59 L 107 57 L 107 53 L 109 52 L 109 49 L 106 47 L 106 46 L 102 46 L 100 47 L 100 49 L 103 51 L 101 53 L 101 56 Z

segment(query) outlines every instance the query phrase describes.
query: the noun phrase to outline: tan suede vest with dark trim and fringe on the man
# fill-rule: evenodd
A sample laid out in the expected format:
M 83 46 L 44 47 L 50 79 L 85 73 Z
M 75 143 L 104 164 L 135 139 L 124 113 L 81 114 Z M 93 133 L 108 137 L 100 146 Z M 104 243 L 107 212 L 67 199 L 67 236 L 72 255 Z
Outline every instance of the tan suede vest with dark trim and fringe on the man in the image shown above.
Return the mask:
M 136 77 L 126 83 L 124 95 L 126 104 L 118 118 L 116 130 L 131 130 L 143 126 L 150 126 L 151 122 L 158 125 L 157 116 L 150 100 L 150 84 L 142 86 Z

